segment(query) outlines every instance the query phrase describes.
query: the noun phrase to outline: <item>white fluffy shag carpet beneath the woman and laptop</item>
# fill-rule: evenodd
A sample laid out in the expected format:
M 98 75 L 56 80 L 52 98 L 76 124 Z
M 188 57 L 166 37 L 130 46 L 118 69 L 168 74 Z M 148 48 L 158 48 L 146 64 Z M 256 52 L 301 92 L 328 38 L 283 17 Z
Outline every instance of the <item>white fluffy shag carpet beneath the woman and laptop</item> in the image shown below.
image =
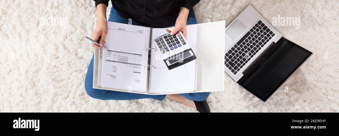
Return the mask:
M 338 112 L 339 2 L 202 0 L 194 9 L 198 23 L 226 20 L 227 25 L 249 4 L 269 22 L 278 15 L 300 17 L 300 29 L 276 29 L 314 54 L 266 103 L 225 74 L 225 91 L 207 98 L 211 111 Z M 86 94 L 93 47 L 84 36 L 95 26 L 94 1 L 2 0 L 0 5 L 0 112 L 196 112 L 172 100 L 103 101 Z M 66 26 L 43 26 L 46 17 L 67 18 Z

